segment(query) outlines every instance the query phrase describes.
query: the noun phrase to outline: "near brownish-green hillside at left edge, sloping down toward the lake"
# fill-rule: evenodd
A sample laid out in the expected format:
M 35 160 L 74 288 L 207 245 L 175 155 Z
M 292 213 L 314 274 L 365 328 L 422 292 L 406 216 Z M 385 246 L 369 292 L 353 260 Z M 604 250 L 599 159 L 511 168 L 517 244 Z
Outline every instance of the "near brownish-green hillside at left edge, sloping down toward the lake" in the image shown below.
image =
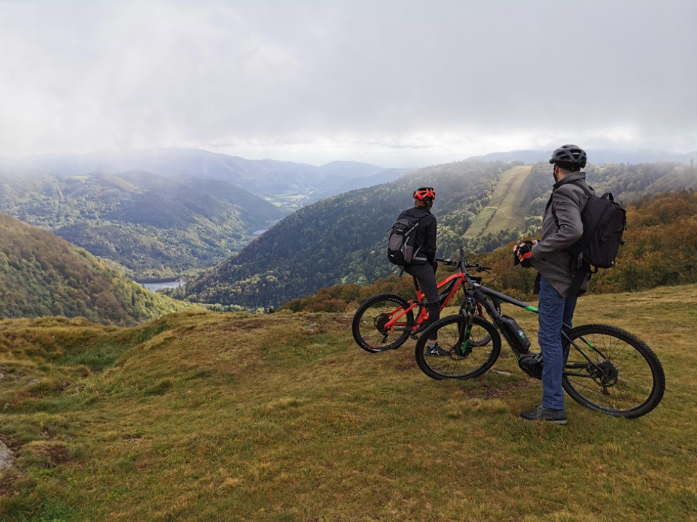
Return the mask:
M 123 326 L 193 307 L 6 214 L 0 214 L 0 294 L 0 318 L 64 315 Z

